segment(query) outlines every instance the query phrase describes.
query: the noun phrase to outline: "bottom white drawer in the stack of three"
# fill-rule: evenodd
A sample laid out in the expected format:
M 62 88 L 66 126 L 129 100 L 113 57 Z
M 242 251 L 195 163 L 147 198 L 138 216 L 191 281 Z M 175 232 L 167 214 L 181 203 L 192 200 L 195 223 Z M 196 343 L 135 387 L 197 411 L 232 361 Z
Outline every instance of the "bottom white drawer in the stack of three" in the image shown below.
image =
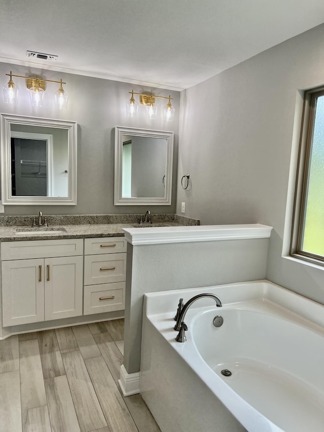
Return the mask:
M 125 282 L 84 287 L 84 315 L 125 309 Z

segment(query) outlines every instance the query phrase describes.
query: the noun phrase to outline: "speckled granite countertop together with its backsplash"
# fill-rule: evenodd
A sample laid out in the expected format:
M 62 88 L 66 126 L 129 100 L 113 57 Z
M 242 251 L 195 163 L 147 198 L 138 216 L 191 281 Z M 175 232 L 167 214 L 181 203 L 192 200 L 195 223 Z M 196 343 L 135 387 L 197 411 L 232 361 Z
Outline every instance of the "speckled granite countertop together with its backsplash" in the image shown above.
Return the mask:
M 123 228 L 140 227 L 138 223 L 140 216 L 141 215 L 47 216 L 49 226 L 42 228 L 31 228 L 32 216 L 2 216 L 0 217 L 0 241 L 12 242 L 120 237 L 124 235 Z M 181 215 L 152 214 L 151 217 L 152 224 L 146 223 L 141 226 L 199 225 L 197 219 L 186 218 Z

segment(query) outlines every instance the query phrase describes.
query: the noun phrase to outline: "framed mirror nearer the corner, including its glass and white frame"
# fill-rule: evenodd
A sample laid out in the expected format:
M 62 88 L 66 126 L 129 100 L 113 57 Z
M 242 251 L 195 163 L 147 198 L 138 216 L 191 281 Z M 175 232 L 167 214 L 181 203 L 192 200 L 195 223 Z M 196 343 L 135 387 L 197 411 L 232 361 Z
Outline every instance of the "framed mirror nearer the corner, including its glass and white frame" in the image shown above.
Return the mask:
M 114 205 L 171 205 L 173 132 L 115 127 Z

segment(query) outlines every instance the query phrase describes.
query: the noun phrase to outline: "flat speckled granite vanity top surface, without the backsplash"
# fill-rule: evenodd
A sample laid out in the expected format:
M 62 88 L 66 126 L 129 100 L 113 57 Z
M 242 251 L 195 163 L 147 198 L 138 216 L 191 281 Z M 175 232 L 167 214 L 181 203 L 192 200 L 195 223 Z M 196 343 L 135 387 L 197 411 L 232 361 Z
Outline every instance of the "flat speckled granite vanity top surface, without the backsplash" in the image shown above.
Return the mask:
M 152 223 L 143 227 L 181 226 L 180 223 Z M 26 241 L 26 240 L 59 240 L 59 239 L 85 239 L 91 237 L 120 237 L 124 236 L 123 228 L 139 227 L 131 223 L 107 223 L 86 225 L 50 225 L 48 228 L 31 228 L 30 226 L 0 226 L 0 241 Z M 46 231 L 46 233 L 42 233 Z M 50 233 L 48 231 L 53 231 Z M 57 232 L 60 231 L 60 232 Z

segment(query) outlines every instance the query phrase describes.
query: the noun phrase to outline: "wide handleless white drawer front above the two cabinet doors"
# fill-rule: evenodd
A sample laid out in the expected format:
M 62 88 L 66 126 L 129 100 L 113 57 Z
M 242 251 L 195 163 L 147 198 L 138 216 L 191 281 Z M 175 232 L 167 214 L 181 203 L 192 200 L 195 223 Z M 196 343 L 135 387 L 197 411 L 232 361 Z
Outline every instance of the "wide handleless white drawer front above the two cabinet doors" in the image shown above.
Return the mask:
M 2 260 L 83 255 L 83 239 L 3 242 Z

